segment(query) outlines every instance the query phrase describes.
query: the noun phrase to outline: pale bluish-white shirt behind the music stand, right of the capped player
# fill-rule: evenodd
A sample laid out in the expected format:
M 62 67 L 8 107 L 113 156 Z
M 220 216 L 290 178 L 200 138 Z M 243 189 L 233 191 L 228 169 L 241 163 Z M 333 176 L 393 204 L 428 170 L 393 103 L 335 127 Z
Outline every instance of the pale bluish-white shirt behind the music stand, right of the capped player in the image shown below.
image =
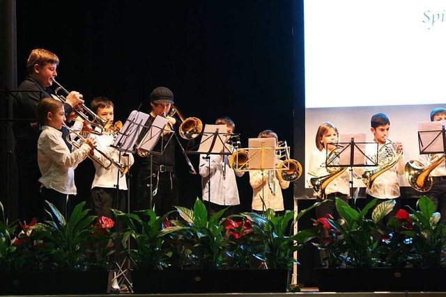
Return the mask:
M 218 205 L 240 204 L 236 176 L 241 177 L 245 172 L 235 172 L 231 169 L 227 155 L 210 154 L 209 160 L 205 157 L 206 154 L 200 154 L 199 173 L 203 200 Z

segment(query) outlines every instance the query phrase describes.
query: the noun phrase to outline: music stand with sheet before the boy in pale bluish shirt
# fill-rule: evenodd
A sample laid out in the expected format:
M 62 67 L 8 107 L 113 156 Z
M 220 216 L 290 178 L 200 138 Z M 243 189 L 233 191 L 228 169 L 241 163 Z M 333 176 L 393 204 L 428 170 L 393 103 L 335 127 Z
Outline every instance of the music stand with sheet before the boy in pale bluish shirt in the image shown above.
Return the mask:
M 224 132 L 223 132 L 224 131 Z M 231 155 L 233 148 L 226 143 L 226 138 L 238 136 L 239 134 L 226 133 L 226 125 L 208 125 L 203 129 L 203 135 L 198 145 L 197 151 L 190 151 L 191 154 L 204 154 L 203 159 L 208 160 L 208 214 L 210 211 L 210 155 L 222 154 L 224 156 Z M 194 147 L 192 147 L 194 149 Z M 226 161 L 223 160 L 223 170 L 226 172 Z M 204 198 L 203 198 L 204 199 Z

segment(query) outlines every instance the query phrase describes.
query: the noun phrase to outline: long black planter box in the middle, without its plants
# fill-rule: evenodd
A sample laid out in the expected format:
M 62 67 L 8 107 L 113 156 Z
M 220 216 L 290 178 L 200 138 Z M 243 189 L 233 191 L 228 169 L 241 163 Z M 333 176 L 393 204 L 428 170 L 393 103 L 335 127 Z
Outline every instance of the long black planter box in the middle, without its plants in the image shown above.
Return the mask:
M 288 275 L 285 269 L 131 272 L 135 294 L 286 292 Z

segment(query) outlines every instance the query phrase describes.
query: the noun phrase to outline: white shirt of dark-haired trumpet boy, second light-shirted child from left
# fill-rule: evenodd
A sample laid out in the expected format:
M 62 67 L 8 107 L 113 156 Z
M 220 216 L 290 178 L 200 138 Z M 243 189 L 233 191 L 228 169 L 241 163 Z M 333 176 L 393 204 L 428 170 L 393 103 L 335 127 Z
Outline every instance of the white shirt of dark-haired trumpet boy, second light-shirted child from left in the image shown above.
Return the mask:
M 103 163 L 105 166 L 109 166 L 109 169 L 102 167 L 98 162 L 94 161 L 93 164 L 95 166 L 95 177 L 93 179 L 93 183 L 91 184 L 91 188 L 95 186 L 99 186 L 101 188 L 118 188 L 120 190 L 127 190 L 127 181 L 125 179 L 125 175 L 121 177 L 121 172 L 118 170 L 116 166 L 112 164 L 112 162 L 107 159 L 108 156 L 110 159 L 113 159 L 117 163 L 121 163 L 123 165 L 132 166 L 134 163 L 134 157 L 132 154 L 124 154 L 116 150 L 116 148 L 111 147 L 112 143 L 114 143 L 114 136 L 112 134 L 102 134 L 99 136 L 93 136 L 96 139 L 96 149 L 94 151 L 95 156 Z M 100 150 L 106 156 L 100 154 L 98 152 Z M 118 182 L 119 175 L 119 182 Z M 117 184 L 118 182 L 118 184 Z

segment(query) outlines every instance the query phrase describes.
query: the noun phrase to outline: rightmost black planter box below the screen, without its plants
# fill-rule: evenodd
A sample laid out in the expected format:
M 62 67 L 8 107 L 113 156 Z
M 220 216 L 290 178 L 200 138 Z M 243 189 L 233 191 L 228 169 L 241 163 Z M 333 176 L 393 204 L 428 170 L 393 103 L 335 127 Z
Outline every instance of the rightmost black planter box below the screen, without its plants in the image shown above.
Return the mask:
M 446 291 L 446 268 L 318 268 L 319 291 Z

